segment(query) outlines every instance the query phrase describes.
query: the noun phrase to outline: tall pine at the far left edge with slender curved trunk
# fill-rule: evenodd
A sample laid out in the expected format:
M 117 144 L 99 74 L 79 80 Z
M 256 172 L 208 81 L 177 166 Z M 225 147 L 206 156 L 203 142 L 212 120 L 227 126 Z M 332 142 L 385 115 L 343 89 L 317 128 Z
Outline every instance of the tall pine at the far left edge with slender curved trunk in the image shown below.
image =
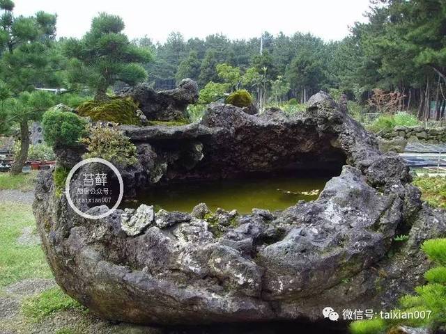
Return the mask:
M 15 17 L 10 0 L 0 0 L 0 9 L 0 127 L 4 129 L 12 122 L 20 125 L 20 153 L 11 168 L 11 173 L 17 174 L 28 157 L 28 123 L 39 120 L 51 100 L 47 93 L 33 90 L 59 83 L 61 58 L 54 47 L 55 15 L 38 12 L 31 17 Z

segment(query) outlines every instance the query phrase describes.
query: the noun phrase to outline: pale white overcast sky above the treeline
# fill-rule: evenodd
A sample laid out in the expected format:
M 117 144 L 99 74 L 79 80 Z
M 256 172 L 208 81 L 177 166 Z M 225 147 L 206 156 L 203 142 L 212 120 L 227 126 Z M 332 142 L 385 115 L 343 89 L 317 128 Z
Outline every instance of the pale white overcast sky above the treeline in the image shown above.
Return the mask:
M 348 26 L 364 22 L 369 0 L 15 0 L 15 13 L 56 13 L 58 36 L 81 37 L 101 11 L 123 17 L 130 38 L 164 42 L 171 31 L 185 38 L 224 33 L 231 39 L 311 32 L 340 40 Z

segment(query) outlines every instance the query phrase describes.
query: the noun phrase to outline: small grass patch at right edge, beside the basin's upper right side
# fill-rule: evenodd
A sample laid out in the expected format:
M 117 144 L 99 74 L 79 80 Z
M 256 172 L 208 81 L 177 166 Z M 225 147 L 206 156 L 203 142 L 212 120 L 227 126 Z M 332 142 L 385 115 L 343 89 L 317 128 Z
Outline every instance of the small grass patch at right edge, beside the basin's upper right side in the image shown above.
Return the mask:
M 446 209 L 446 177 L 418 176 L 413 184 L 420 188 L 422 200 L 433 207 Z

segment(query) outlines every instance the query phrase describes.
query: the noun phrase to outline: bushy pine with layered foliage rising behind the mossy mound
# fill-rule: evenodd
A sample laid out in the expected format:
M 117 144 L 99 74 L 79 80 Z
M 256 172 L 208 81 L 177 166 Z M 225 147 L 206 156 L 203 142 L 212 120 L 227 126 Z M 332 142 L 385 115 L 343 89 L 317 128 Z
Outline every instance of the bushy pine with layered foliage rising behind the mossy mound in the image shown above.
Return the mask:
M 153 55 L 131 43 L 123 29 L 121 17 L 100 13 L 81 40 L 70 38 L 64 45 L 70 81 L 89 86 L 95 100 L 107 100 L 107 89 L 116 81 L 134 85 L 147 77 L 140 63 L 151 61 Z

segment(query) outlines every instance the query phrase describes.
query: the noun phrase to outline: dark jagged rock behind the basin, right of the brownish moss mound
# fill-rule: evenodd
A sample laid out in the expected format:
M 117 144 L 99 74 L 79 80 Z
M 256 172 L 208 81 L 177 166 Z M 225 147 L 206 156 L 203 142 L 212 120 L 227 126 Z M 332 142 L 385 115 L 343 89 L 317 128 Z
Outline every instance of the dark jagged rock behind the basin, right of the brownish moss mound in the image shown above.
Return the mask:
M 121 95 L 132 97 L 148 120 L 184 120 L 187 105 L 198 100 L 198 85 L 192 79 L 183 79 L 178 88 L 156 92 L 140 84 L 125 88 Z

